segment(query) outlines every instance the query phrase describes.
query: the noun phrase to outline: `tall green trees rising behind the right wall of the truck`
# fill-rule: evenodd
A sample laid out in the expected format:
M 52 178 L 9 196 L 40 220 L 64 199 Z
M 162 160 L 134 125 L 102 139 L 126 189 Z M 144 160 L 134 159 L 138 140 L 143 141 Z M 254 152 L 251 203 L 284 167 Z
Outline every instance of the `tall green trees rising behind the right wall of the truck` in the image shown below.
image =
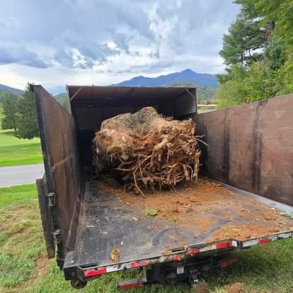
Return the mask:
M 236 0 L 240 12 L 223 36 L 219 107 L 293 92 L 293 1 Z

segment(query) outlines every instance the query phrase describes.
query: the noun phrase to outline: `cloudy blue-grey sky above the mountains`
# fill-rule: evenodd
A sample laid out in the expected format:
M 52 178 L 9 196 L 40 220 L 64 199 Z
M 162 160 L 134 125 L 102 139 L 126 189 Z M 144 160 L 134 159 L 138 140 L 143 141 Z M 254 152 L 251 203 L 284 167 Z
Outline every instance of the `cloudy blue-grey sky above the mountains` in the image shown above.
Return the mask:
M 183 69 L 218 73 L 232 0 L 0 1 L 0 84 L 105 85 Z

